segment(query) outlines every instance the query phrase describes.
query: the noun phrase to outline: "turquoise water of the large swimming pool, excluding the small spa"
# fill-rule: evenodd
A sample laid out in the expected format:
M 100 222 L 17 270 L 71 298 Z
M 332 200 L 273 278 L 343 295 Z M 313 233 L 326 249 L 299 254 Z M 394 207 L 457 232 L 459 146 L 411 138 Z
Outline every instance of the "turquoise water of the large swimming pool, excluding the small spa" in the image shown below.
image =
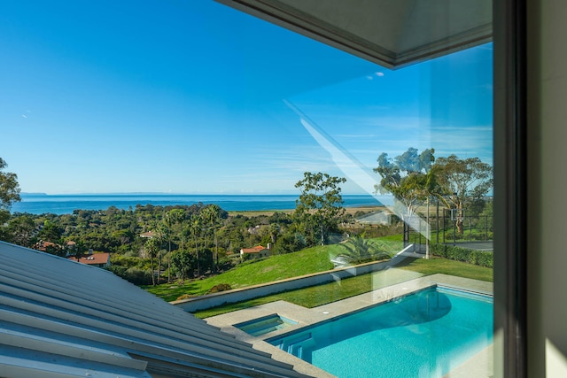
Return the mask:
M 424 289 L 267 340 L 340 378 L 441 377 L 493 341 L 493 298 Z

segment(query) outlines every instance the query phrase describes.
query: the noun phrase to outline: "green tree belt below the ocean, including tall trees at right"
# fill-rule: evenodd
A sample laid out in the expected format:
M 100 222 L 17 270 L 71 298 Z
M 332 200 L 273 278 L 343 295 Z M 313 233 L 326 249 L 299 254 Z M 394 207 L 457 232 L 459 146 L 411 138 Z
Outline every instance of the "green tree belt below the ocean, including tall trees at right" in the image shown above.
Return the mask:
M 386 153 L 377 158 L 374 171 L 381 180 L 376 191 L 397 198 L 402 224 L 431 198 L 454 209 L 457 221 L 465 210 L 473 214 L 484 207 L 492 189 L 492 167 L 478 158 L 436 159 L 434 152 L 409 148 L 395 158 Z M 240 262 L 237 257 L 244 248 L 269 244 L 274 254 L 290 253 L 338 243 L 362 229 L 343 207 L 341 185 L 346 179 L 330 174 L 304 173 L 295 184 L 300 194 L 290 212 L 229 216 L 216 204 L 138 204 L 128 210 L 111 206 L 36 215 L 10 213 L 10 205 L 20 200 L 19 186 L 15 174 L 2 172 L 5 167 L 0 158 L 0 240 L 30 248 L 41 244 L 43 251 L 59 256 L 110 252 L 113 272 L 135 283 L 218 274 Z M 394 222 L 366 231 L 385 235 L 398 232 L 396 227 Z M 462 222 L 458 227 L 462 232 Z

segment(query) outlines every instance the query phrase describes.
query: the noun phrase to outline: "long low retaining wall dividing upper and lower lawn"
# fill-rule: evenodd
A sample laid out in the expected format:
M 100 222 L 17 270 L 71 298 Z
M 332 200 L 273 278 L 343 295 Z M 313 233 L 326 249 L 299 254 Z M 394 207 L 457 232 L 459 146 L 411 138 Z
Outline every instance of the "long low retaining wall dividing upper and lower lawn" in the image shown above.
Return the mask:
M 265 297 L 282 291 L 302 289 L 309 286 L 320 285 L 322 283 L 340 281 L 354 275 L 368 274 L 382 270 L 387 266 L 395 266 L 411 254 L 412 251 L 414 251 L 414 246 L 413 244 L 410 244 L 389 260 L 366 263 L 358 266 L 347 266 L 322 273 L 307 274 L 287 280 L 249 286 L 242 289 L 221 291 L 218 293 L 208 294 L 206 296 L 174 301 L 171 302 L 171 304 L 181 307 L 186 312 L 196 312 L 198 310 L 205 310 L 218 305 L 242 302 L 256 297 Z

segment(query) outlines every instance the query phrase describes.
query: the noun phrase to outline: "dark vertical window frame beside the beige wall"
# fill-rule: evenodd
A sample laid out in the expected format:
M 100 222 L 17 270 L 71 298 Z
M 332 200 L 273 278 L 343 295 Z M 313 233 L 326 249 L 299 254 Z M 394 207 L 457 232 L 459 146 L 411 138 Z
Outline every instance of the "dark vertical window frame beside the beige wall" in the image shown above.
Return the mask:
M 494 347 L 503 359 L 496 352 L 494 366 L 514 378 L 527 377 L 525 30 L 524 0 L 493 0 Z

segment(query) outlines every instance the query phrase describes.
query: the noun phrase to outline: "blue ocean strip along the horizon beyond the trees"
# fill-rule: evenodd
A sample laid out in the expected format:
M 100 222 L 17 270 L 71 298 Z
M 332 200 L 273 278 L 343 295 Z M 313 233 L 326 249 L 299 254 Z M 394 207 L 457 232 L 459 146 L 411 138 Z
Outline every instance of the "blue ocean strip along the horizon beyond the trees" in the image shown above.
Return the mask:
M 136 204 L 173 206 L 175 204 L 218 204 L 226 211 L 288 210 L 295 208 L 296 195 L 167 195 L 167 194 L 89 194 L 43 195 L 22 194 L 21 202 L 12 204 L 12 213 L 70 214 L 74 210 L 106 210 L 110 206 L 128 210 Z M 388 197 L 343 195 L 345 207 L 377 206 Z

